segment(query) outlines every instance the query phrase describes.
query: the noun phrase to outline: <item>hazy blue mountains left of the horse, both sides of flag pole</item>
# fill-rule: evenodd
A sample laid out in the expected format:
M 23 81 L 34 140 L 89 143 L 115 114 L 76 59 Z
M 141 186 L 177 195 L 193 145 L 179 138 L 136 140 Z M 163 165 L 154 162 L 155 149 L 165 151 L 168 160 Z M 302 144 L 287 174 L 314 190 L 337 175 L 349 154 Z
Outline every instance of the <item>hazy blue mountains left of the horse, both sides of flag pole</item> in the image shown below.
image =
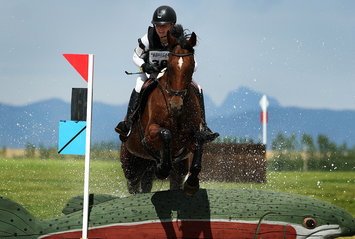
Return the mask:
M 0 147 L 24 148 L 28 142 L 58 146 L 59 121 L 70 120 L 71 104 L 52 99 L 27 106 L 0 105 Z M 126 114 L 127 106 L 98 102 L 92 109 L 92 142 L 118 141 L 114 127 Z

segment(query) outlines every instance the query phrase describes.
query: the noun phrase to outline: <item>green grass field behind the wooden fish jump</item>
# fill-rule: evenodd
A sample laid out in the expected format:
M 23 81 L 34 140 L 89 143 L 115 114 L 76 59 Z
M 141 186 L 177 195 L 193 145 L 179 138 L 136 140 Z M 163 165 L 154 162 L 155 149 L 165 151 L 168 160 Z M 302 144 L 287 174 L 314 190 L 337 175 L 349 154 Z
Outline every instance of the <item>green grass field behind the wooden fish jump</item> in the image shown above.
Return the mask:
M 0 196 L 24 206 L 38 219 L 61 215 L 67 200 L 83 194 L 84 160 L 0 158 Z M 200 182 L 201 188 L 283 191 L 332 202 L 355 215 L 355 171 L 267 172 L 265 184 Z M 166 190 L 157 181 L 153 191 Z M 119 162 L 91 161 L 90 193 L 129 196 Z M 355 237 L 353 237 L 355 239 Z

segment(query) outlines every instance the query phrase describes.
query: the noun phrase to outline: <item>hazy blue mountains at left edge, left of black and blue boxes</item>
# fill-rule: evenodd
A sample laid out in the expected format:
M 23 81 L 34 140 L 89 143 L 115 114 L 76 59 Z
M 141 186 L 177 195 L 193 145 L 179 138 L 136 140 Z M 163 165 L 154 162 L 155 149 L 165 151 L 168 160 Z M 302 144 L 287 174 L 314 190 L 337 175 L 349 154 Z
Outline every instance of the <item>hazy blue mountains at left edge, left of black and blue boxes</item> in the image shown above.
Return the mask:
M 24 148 L 31 142 L 58 144 L 60 119 L 70 119 L 70 104 L 52 99 L 26 106 L 0 105 L 0 146 Z

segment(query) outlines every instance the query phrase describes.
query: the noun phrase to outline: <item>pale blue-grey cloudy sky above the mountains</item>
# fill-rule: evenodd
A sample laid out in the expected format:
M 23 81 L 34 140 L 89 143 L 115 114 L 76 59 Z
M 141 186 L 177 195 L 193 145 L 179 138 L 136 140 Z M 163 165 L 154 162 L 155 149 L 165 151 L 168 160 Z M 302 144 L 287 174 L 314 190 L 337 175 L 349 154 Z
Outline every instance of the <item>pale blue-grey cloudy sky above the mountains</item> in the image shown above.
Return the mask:
M 194 79 L 217 105 L 239 87 L 283 106 L 355 110 L 355 1 L 18 1 L 0 4 L 0 103 L 23 106 L 87 83 L 62 54 L 94 54 L 93 101 L 126 104 L 138 38 L 154 10 L 195 32 Z

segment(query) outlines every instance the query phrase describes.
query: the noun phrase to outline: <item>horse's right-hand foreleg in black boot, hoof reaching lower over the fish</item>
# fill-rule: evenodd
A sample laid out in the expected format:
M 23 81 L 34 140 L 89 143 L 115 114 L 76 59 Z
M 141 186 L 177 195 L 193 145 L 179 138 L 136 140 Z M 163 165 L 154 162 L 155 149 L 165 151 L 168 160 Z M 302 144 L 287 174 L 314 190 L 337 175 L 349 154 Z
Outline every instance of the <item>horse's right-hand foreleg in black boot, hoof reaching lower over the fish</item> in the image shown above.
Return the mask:
M 184 183 L 184 191 L 186 194 L 193 195 L 197 193 L 198 189 L 200 189 L 200 180 L 198 179 L 198 174 L 201 172 L 201 161 L 202 161 L 202 152 L 203 152 L 203 144 L 208 138 L 208 134 L 204 130 L 199 130 L 195 134 L 196 138 L 196 147 L 195 152 L 193 154 L 191 166 L 190 166 L 190 176 L 187 178 Z

